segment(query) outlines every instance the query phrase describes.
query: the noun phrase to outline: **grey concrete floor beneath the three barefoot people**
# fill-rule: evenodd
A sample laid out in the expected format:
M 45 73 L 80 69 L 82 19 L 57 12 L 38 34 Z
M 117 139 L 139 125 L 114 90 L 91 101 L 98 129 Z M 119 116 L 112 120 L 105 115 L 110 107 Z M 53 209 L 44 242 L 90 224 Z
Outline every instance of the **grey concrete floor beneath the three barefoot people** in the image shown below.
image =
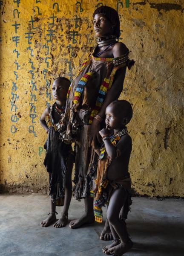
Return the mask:
M 58 207 L 58 213 L 62 207 Z M 0 195 L 0 255 L 4 256 L 103 256 L 99 239 L 102 224 L 77 230 L 40 227 L 49 212 L 46 195 Z M 72 199 L 69 219 L 83 212 L 83 201 Z M 104 218 L 106 210 L 104 208 Z M 133 198 L 127 221 L 134 246 L 127 256 L 183 256 L 184 202 Z M 183 233 L 183 234 L 182 234 Z

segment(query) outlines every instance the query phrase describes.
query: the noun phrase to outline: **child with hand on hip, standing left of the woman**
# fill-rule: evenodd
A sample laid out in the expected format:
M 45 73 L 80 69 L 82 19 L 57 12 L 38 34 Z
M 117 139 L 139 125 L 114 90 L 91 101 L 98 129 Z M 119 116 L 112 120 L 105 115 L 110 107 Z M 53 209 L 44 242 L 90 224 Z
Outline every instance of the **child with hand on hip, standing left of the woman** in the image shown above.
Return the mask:
M 55 79 L 52 84 L 52 96 L 56 102 L 43 112 L 40 124 L 48 133 L 44 148 L 46 157 L 44 165 L 49 172 L 50 212 L 41 221 L 42 227 L 48 227 L 55 222 L 54 227 L 64 227 L 68 223 L 68 209 L 72 198 L 72 167 L 73 152 L 71 144 L 65 144 L 59 139 L 60 119 L 65 113 L 66 96 L 70 81 L 65 77 Z M 56 205 L 63 206 L 61 218 L 56 221 Z

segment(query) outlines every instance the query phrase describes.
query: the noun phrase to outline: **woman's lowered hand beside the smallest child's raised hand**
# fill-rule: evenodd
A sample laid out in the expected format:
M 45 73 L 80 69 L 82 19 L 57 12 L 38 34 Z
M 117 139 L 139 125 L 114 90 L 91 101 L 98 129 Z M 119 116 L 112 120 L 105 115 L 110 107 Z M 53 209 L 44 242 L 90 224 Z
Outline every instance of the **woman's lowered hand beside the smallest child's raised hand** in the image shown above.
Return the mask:
M 97 119 L 93 119 L 90 132 L 89 132 L 89 147 L 92 145 L 92 141 L 101 143 L 101 136 L 99 131 L 101 130 L 101 123 Z

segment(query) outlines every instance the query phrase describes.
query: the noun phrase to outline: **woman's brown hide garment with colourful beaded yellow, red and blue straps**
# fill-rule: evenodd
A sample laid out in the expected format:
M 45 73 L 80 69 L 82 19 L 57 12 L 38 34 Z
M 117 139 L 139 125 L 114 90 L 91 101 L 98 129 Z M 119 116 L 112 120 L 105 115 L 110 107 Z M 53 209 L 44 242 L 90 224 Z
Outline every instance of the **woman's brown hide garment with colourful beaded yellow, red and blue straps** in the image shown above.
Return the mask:
M 90 183 L 97 170 L 98 156 L 92 147 L 88 147 L 90 124 L 113 86 L 116 71 L 127 65 L 120 61 L 121 58 L 124 59 L 124 55 L 118 58 L 90 55 L 69 88 L 65 115 L 60 122 L 60 139 L 76 143 L 73 192 L 78 200 L 90 195 Z M 114 61 L 120 61 L 120 64 L 114 65 Z

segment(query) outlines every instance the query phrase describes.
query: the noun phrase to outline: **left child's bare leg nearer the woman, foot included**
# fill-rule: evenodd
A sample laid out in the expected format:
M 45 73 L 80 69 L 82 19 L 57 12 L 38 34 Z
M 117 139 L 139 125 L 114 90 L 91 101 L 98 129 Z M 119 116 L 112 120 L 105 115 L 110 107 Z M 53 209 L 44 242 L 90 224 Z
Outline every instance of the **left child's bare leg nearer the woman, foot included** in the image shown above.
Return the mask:
M 56 221 L 54 227 L 65 227 L 68 223 L 68 209 L 72 198 L 72 168 L 73 168 L 73 157 L 69 156 L 67 172 L 65 176 L 65 199 L 63 212 L 61 218 Z

